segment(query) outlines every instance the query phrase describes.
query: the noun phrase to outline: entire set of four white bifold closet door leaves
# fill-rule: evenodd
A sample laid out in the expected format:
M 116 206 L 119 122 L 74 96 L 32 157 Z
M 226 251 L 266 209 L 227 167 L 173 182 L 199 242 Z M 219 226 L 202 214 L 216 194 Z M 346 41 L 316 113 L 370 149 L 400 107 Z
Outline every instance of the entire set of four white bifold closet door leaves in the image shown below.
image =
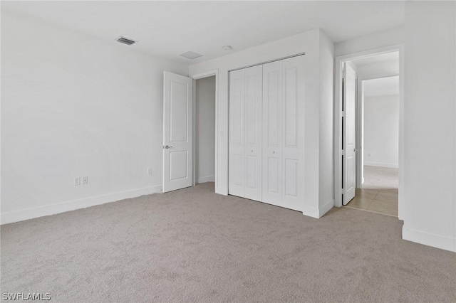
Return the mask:
M 304 56 L 229 73 L 229 194 L 302 211 Z

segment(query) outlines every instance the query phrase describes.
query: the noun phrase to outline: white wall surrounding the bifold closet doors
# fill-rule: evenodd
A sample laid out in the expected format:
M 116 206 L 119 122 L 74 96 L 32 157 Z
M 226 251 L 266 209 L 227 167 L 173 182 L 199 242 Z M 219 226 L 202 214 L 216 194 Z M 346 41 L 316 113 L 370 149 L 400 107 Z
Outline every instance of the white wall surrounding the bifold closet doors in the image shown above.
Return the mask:
M 220 58 L 207 60 L 190 65 L 190 76 L 219 71 L 219 88 L 217 103 L 217 171 L 215 191 L 228 193 L 228 73 L 229 70 L 243 68 L 248 65 L 264 63 L 269 60 L 284 58 L 289 55 L 306 53 L 306 107 L 305 107 L 305 181 L 304 211 L 309 216 L 322 216 L 319 206 L 319 172 L 320 172 L 320 98 L 328 82 L 321 84 L 320 70 L 320 39 L 323 32 L 319 29 L 307 31 L 299 35 L 284 38 L 261 46 L 249 48 Z M 331 42 L 331 41 L 329 41 Z M 327 45 L 329 42 L 322 42 Z M 327 58 L 327 57 L 326 57 Z M 326 59 L 325 59 L 326 60 Z M 323 63 L 322 63 L 323 64 Z M 328 63 L 325 63 L 328 64 Z M 325 65 L 326 66 L 326 65 Z M 326 76 L 325 76 L 326 77 Z M 321 87 L 321 85 L 325 87 Z M 332 85 L 332 83 L 331 83 Z M 322 105 L 323 106 L 323 105 Z M 331 104 L 332 110 L 332 104 Z M 331 134 L 332 136 L 332 134 Z M 332 137 L 331 137 L 332 138 Z M 325 169 L 326 171 L 326 169 Z

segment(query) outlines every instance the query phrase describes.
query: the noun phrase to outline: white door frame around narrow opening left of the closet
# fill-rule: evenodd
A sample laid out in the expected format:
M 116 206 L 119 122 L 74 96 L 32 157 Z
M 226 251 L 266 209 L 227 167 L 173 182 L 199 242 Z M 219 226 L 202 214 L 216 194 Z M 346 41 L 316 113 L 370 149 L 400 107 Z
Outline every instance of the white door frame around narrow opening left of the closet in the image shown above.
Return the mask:
M 217 188 L 217 171 L 218 171 L 218 168 L 217 168 L 217 154 L 218 154 L 218 115 L 217 113 L 219 112 L 218 111 L 218 105 L 219 105 L 219 70 L 218 68 L 215 69 L 215 70 L 209 70 L 207 72 L 204 72 L 204 73 L 198 73 L 196 75 L 190 75 L 189 77 L 193 79 L 193 117 L 192 117 L 192 124 L 193 124 L 193 138 L 192 138 L 192 151 L 193 151 L 193 155 L 192 155 L 192 162 L 193 162 L 193 169 L 192 169 L 192 186 L 195 186 L 196 183 L 197 183 L 197 180 L 196 180 L 196 171 L 197 171 L 197 167 L 196 167 L 196 132 L 197 132 L 197 129 L 196 129 L 196 123 L 197 123 L 197 119 L 196 119 L 196 115 L 197 115 L 197 112 L 196 112 L 196 107 L 197 107 L 197 98 L 196 98 L 196 86 L 197 86 L 197 81 L 196 80 L 199 80 L 199 79 L 203 79 L 203 78 L 208 78 L 208 77 L 212 77 L 212 76 L 215 76 L 215 112 L 214 112 L 214 115 L 215 115 L 215 166 L 214 166 L 214 179 L 215 179 L 215 188 Z

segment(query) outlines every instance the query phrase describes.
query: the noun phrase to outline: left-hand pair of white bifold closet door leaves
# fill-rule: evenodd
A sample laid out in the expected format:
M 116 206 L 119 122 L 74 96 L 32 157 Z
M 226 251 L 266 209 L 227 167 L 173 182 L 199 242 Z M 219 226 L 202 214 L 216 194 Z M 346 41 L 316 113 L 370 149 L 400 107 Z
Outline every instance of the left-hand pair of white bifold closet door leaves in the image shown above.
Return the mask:
M 229 194 L 261 201 L 262 66 L 229 73 Z

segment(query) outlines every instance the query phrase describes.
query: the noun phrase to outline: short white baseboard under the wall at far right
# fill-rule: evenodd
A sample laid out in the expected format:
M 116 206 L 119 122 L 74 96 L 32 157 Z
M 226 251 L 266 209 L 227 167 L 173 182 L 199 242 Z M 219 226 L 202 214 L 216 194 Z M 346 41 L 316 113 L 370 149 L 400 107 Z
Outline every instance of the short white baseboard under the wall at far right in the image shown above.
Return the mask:
M 420 243 L 434 248 L 440 248 L 442 250 L 450 250 L 450 252 L 456 252 L 456 239 L 447 238 L 441 235 L 435 235 L 432 233 L 425 233 L 420 230 L 413 230 L 403 225 L 402 238 L 404 240 Z

